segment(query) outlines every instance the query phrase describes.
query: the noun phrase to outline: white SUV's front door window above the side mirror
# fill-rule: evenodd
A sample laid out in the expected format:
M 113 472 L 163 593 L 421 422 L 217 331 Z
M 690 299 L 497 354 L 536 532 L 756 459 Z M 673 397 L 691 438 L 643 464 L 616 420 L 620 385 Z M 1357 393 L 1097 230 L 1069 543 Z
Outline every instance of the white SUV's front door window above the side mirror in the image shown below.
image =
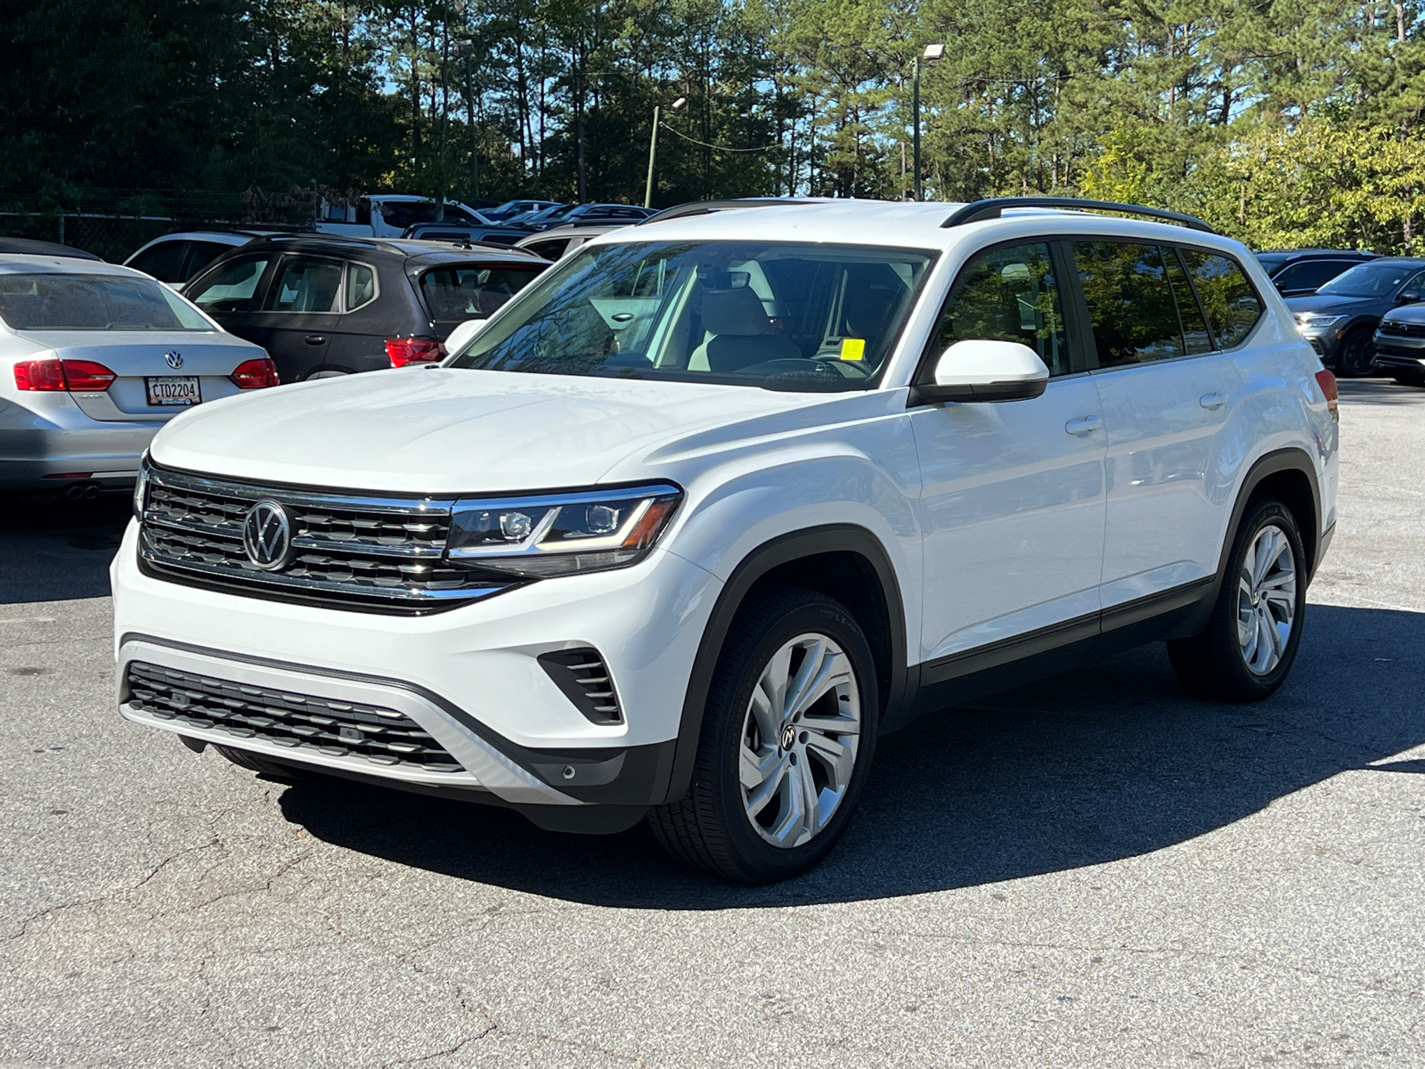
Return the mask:
M 1007 245 L 966 264 L 940 312 L 938 351 L 955 342 L 1023 342 L 1050 375 L 1069 372 L 1063 302 L 1049 247 Z

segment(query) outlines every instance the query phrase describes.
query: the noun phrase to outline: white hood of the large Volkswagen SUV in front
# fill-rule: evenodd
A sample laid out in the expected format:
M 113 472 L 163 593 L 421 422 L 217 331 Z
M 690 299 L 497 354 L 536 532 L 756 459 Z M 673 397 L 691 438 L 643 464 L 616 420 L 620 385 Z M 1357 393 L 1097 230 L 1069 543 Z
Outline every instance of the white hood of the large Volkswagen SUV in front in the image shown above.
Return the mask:
M 298 486 L 543 490 L 594 485 L 636 452 L 693 443 L 714 426 L 724 442 L 775 433 L 804 423 L 798 412 L 855 398 L 876 403 L 868 393 L 400 368 L 194 406 L 150 453 L 190 472 Z

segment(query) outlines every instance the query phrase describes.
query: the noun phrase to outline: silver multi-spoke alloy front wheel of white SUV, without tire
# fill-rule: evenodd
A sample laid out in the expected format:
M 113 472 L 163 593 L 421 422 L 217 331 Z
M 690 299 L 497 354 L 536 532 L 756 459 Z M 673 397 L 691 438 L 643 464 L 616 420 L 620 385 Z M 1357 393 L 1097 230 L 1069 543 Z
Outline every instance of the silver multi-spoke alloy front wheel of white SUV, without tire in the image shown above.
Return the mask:
M 799 634 L 772 656 L 742 718 L 742 807 L 774 847 L 809 842 L 846 795 L 861 743 L 851 659 L 825 634 Z

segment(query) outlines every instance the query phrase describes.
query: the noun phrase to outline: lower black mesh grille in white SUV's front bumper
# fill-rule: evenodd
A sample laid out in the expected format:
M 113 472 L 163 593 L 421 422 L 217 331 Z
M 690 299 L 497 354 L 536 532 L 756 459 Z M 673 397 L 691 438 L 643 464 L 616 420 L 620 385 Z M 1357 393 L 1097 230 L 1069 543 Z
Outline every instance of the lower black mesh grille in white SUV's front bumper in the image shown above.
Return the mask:
M 405 713 L 130 661 L 128 704 L 235 741 L 261 738 L 294 751 L 426 773 L 465 771 Z

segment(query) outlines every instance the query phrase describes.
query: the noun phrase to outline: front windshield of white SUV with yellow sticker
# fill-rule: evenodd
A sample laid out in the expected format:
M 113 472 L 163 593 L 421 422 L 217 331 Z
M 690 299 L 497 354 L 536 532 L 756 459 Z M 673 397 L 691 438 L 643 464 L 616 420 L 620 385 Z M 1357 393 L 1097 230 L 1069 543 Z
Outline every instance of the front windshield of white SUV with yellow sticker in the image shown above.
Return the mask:
M 447 366 L 868 389 L 935 257 L 779 242 L 591 245 Z

